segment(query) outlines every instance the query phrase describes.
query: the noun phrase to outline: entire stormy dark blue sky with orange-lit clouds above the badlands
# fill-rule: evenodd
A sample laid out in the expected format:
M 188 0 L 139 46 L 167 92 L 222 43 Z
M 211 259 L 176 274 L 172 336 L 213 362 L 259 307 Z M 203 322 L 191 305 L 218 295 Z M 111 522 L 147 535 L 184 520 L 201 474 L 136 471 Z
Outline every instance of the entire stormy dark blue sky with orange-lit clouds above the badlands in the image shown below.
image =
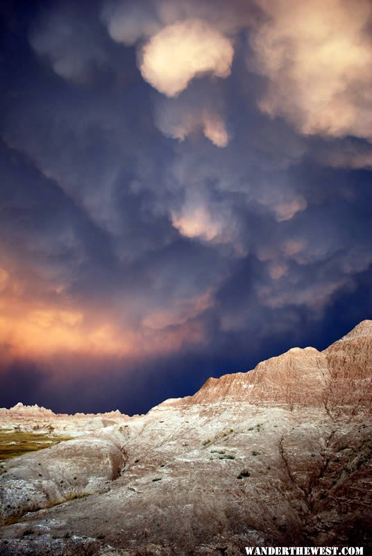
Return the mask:
M 369 0 L 0 13 L 0 407 L 143 413 L 371 318 Z

